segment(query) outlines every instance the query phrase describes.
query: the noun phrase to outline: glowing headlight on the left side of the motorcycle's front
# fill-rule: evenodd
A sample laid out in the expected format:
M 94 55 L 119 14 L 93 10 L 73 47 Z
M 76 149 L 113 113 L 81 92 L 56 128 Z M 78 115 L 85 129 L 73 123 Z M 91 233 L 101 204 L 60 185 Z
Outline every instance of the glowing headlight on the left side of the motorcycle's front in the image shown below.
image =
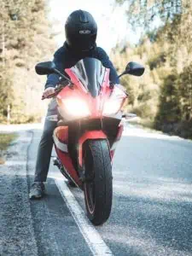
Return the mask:
M 86 102 L 79 98 L 71 98 L 62 101 L 67 114 L 77 117 L 85 117 L 90 114 L 90 110 Z

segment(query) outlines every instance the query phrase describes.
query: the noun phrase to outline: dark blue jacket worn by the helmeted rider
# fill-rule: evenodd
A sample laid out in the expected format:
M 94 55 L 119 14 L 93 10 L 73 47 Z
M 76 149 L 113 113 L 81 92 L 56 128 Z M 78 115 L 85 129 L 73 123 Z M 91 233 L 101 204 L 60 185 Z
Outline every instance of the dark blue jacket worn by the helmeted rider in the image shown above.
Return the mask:
M 74 52 L 67 46 L 65 43 L 60 49 L 57 49 L 54 55 L 54 62 L 56 68 L 64 72 L 65 68 L 73 67 L 75 64 L 84 59 L 85 57 L 96 58 L 99 61 L 102 61 L 104 67 L 110 68 L 109 79 L 113 84 L 119 84 L 119 78 L 113 63 L 109 60 L 107 53 L 101 47 L 96 47 L 86 52 Z M 59 75 L 49 74 L 47 82 L 45 84 L 45 89 L 48 87 L 55 87 L 59 82 Z

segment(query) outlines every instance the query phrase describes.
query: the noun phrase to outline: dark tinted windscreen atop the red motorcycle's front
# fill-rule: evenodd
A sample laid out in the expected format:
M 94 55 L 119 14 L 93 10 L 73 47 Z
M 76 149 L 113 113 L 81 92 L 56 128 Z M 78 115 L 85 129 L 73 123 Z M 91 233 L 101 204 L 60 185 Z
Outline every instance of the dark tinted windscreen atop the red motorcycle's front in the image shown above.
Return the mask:
M 105 74 L 102 62 L 95 58 L 84 58 L 72 67 L 84 87 L 90 91 L 91 96 L 99 95 Z

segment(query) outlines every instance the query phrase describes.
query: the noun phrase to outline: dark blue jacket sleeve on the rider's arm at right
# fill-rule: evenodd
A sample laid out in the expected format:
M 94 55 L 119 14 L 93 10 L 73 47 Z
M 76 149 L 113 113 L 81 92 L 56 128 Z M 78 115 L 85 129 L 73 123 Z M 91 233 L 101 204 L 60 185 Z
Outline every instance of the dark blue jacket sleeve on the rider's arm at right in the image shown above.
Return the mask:
M 102 49 L 101 47 L 98 47 L 98 53 L 99 53 L 99 60 L 102 61 L 102 65 L 110 69 L 109 80 L 113 84 L 119 84 L 118 74 L 115 68 L 113 67 L 112 61 L 109 60 L 109 57 L 105 52 L 105 50 Z

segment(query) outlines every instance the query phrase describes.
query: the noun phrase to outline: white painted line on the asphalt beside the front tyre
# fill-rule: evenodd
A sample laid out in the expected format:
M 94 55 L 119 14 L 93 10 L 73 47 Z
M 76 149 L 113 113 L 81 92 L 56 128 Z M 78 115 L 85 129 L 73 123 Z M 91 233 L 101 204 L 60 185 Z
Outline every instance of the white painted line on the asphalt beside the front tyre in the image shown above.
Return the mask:
M 70 189 L 68 189 L 66 182 L 55 179 L 55 183 L 93 255 L 113 255 L 107 244 L 102 240 L 102 236 L 99 235 L 98 231 L 85 217 L 85 212 L 79 206 Z

